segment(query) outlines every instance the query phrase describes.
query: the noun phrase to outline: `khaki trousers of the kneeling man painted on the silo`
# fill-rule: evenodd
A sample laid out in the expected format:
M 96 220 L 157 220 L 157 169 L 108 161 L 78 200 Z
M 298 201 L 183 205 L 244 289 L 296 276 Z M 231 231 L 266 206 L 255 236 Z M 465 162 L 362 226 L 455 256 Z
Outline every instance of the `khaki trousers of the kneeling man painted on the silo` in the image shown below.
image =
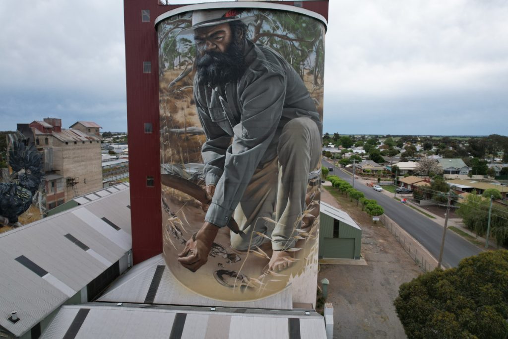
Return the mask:
M 277 157 L 256 170 L 235 209 L 240 233 L 231 232 L 234 249 L 246 251 L 270 239 L 276 251 L 295 246 L 309 173 L 320 159 L 321 134 L 315 122 L 308 117 L 291 119 L 279 137 Z

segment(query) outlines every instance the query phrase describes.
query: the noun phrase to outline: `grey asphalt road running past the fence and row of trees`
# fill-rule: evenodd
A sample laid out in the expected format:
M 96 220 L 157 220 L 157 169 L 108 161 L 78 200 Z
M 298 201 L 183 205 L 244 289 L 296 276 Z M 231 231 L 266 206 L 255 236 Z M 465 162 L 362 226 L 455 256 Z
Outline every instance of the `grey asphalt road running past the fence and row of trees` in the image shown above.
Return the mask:
M 350 175 L 345 174 L 333 164 L 323 160 L 323 166 L 334 168 L 333 172 L 330 172 L 329 175 L 334 174 L 350 183 L 352 182 Z M 439 249 L 443 233 L 442 226 L 425 217 L 422 213 L 412 208 L 402 206 L 400 202 L 397 202 L 393 197 L 389 197 L 381 192 L 376 192 L 364 184 L 360 184 L 359 182 L 357 184 L 355 182 L 355 189 L 363 192 L 367 199 L 377 200 L 377 203 L 385 209 L 385 214 L 388 215 L 388 217 L 418 240 L 434 258 L 439 258 Z M 482 250 L 477 246 L 464 240 L 453 231 L 447 231 L 444 240 L 442 264 L 445 267 L 456 267 L 461 259 L 477 255 L 480 252 L 482 252 Z

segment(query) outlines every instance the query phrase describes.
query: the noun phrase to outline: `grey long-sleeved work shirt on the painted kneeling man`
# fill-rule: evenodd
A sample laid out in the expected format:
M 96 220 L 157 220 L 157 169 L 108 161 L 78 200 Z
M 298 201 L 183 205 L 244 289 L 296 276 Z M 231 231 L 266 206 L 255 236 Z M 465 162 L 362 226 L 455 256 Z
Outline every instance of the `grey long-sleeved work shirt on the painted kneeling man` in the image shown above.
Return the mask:
M 256 168 L 277 156 L 284 125 L 308 116 L 322 131 L 319 113 L 300 76 L 282 56 L 248 42 L 243 76 L 221 87 L 199 85 L 194 98 L 207 141 L 206 184 L 216 186 L 205 221 L 226 226 Z

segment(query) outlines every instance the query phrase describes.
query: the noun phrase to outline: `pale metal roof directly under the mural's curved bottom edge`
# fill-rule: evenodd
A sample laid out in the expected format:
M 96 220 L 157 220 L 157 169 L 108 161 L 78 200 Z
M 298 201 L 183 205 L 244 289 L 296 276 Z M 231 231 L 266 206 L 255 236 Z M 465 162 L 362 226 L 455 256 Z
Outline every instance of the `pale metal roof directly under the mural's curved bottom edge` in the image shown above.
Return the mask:
M 98 301 L 144 303 L 158 266 L 164 266 L 162 279 L 156 286 L 152 300 L 156 304 L 260 307 L 263 309 L 291 310 L 293 298 L 291 287 L 270 297 L 246 302 L 225 302 L 200 296 L 178 282 L 166 266 L 162 255 L 145 260 L 123 274 Z

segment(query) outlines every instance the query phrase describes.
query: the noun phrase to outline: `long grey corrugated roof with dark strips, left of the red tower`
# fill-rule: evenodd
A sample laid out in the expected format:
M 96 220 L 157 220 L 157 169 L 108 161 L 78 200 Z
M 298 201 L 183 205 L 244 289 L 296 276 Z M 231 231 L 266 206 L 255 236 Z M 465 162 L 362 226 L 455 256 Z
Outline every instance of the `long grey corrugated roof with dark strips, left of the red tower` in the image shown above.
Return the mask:
M 0 234 L 2 327 L 22 335 L 67 301 L 69 294 L 97 278 L 108 267 L 106 262 L 118 261 L 131 248 L 130 193 L 116 191 Z M 20 319 L 16 323 L 7 319 L 14 310 Z

